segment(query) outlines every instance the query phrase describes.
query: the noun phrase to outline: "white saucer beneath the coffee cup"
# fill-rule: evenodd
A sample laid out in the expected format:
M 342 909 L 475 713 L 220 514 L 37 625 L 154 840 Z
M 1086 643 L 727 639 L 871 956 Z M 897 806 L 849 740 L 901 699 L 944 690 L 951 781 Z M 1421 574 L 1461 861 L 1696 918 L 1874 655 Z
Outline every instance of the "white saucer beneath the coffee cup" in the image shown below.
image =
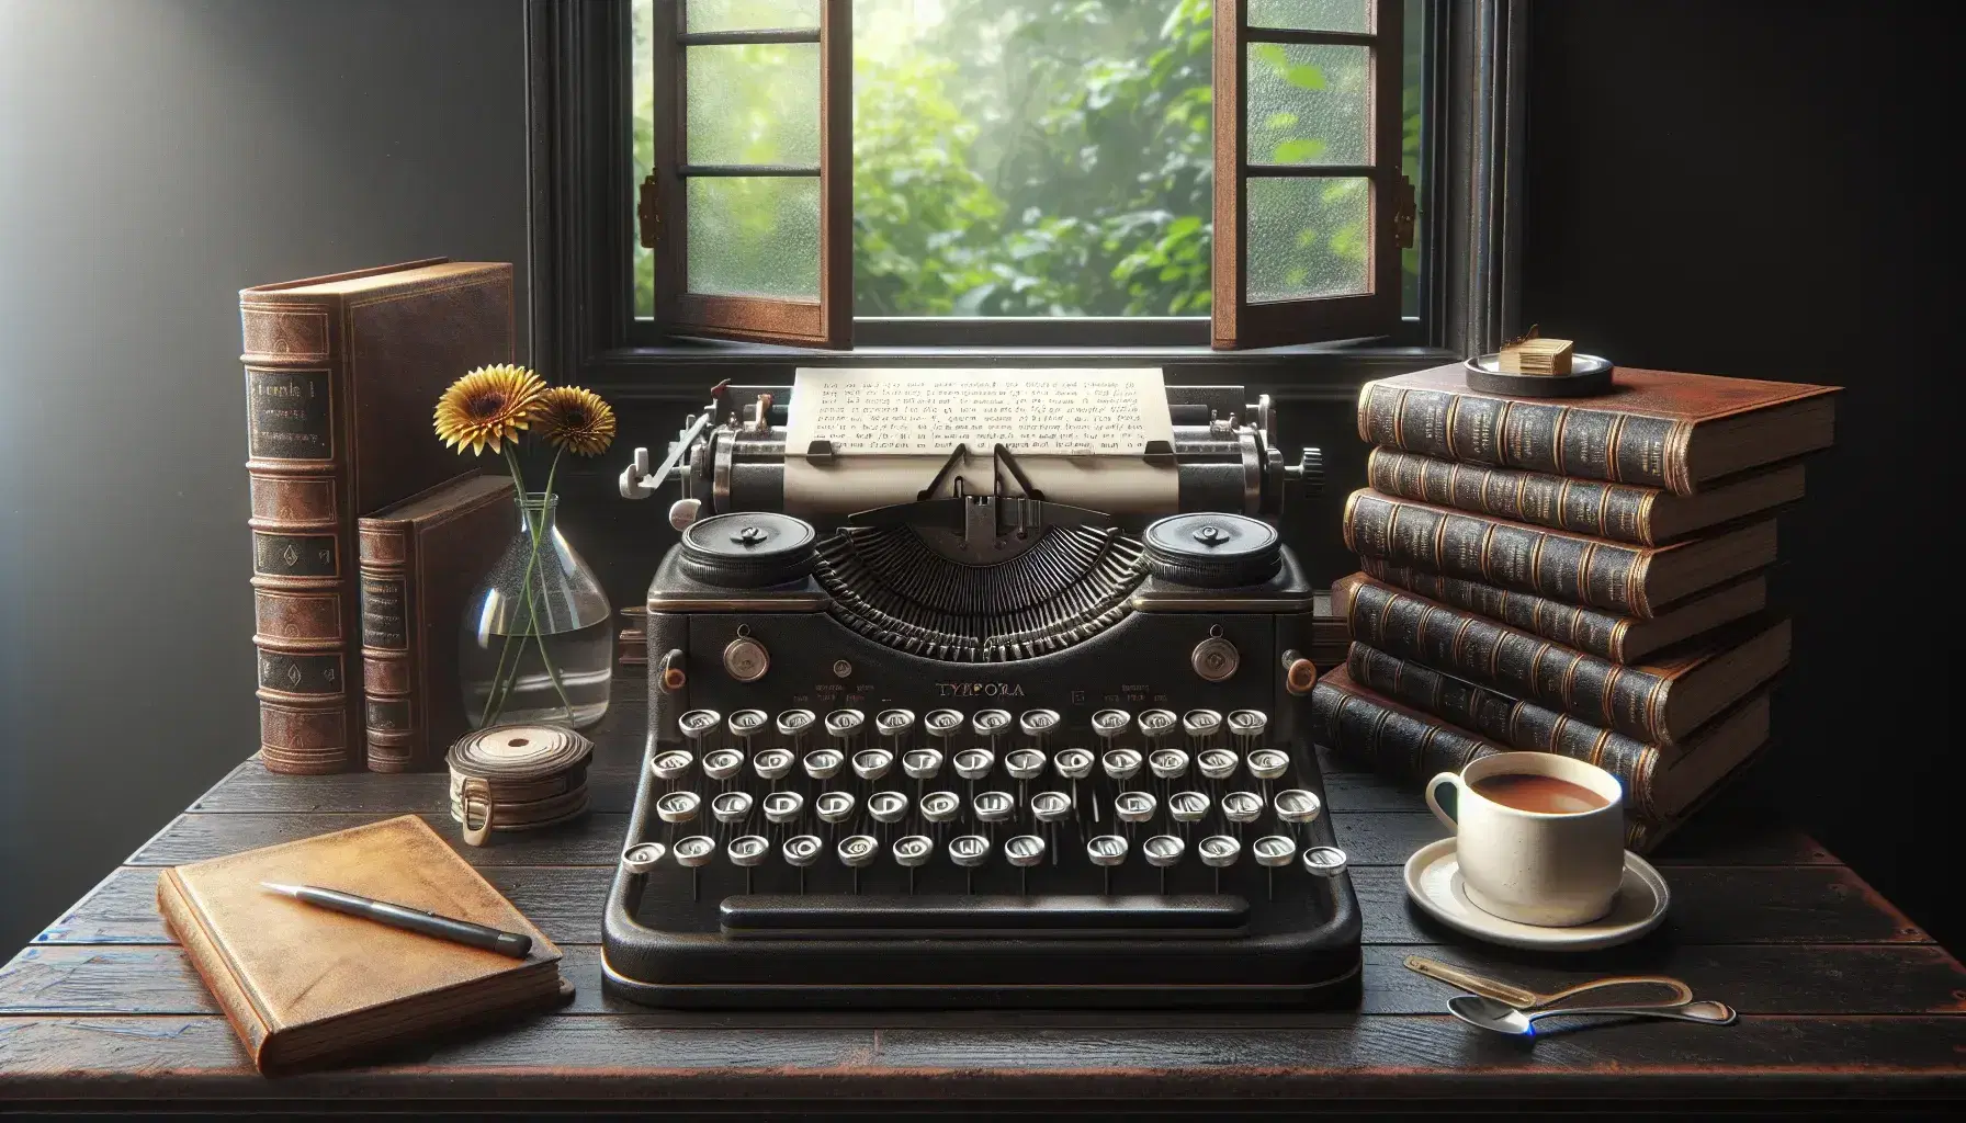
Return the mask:
M 1644 857 L 1626 852 L 1624 881 L 1618 885 L 1618 899 L 1602 920 L 1577 924 L 1575 928 L 1518 924 L 1516 920 L 1482 913 L 1469 901 L 1467 891 L 1461 887 L 1461 859 L 1455 856 L 1453 838 L 1429 842 L 1406 859 L 1406 895 L 1441 924 L 1467 932 L 1476 940 L 1555 952 L 1585 952 L 1636 940 L 1659 926 L 1667 905 L 1673 901 L 1659 871 Z

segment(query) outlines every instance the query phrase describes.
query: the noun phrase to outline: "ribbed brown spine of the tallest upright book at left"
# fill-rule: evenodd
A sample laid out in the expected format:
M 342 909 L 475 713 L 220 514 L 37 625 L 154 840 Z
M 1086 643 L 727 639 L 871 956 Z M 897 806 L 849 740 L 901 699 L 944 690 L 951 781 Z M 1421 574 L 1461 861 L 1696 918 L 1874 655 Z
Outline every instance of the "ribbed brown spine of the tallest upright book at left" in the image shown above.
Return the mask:
M 260 755 L 269 771 L 352 761 L 354 551 L 342 509 L 348 399 L 332 301 L 240 297 Z

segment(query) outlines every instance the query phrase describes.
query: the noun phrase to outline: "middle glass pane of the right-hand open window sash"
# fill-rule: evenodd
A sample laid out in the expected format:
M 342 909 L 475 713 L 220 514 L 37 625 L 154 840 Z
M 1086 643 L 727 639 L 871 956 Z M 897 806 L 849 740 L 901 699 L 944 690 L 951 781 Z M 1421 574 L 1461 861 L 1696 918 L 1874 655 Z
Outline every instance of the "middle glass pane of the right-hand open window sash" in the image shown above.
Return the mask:
M 1248 45 L 1250 163 L 1372 163 L 1370 47 Z

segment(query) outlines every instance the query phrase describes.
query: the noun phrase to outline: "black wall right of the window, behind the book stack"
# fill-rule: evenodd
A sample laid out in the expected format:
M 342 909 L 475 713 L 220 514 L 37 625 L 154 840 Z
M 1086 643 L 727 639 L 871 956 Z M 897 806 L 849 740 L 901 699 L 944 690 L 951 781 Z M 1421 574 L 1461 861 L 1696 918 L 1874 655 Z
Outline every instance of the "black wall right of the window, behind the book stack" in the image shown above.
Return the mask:
M 1960 948 L 1938 857 L 1966 781 L 1938 545 L 1960 509 L 1952 24 L 1940 4 L 1535 4 L 1522 303 L 1620 364 L 1848 387 L 1781 527 L 1795 663 L 1754 779 Z

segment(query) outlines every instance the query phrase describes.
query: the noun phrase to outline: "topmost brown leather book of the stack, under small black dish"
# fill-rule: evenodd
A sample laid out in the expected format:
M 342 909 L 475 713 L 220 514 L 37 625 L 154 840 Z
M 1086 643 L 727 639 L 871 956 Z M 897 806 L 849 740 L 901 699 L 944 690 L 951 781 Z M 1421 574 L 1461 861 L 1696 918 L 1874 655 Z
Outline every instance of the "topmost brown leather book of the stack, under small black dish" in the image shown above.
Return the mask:
M 1443 460 L 1691 496 L 1734 472 L 1828 448 L 1838 389 L 1620 366 L 1610 393 L 1565 403 L 1476 393 L 1457 362 L 1364 384 L 1359 437 Z

